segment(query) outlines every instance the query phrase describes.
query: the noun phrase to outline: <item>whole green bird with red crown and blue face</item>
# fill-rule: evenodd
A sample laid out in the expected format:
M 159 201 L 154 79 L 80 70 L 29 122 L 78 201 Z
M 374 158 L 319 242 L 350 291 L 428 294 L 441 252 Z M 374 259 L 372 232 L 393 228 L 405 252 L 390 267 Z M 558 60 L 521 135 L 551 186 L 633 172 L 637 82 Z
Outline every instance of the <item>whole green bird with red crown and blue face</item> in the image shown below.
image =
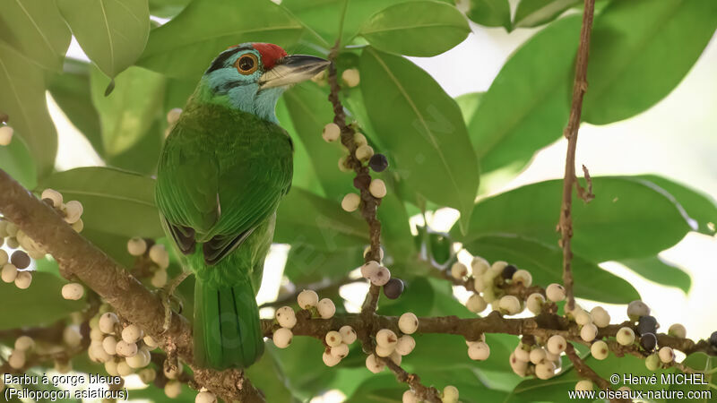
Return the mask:
M 263 353 L 255 296 L 293 170 L 276 102 L 328 64 L 267 43 L 229 47 L 164 143 L 156 200 L 165 233 L 196 276 L 195 364 L 246 368 Z

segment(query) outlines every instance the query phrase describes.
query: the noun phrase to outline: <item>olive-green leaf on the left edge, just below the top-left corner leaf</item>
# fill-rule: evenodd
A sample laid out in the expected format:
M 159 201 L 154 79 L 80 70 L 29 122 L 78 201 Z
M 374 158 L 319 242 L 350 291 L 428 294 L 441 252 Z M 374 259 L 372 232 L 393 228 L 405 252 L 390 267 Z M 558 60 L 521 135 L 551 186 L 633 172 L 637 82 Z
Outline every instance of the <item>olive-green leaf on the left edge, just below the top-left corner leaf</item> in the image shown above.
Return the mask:
M 0 110 L 30 150 L 40 177 L 55 167 L 57 133 L 45 100 L 44 72 L 0 41 Z

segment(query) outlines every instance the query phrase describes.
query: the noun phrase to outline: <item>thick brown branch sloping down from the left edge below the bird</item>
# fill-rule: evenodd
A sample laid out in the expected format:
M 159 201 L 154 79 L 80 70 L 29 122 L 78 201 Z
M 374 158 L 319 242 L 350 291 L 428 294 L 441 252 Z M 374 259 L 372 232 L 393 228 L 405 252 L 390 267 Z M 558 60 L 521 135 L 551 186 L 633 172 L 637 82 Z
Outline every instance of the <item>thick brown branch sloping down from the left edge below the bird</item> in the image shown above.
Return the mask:
M 75 276 L 97 292 L 124 317 L 161 340 L 168 355 L 176 354 L 194 370 L 196 381 L 222 399 L 263 401 L 260 392 L 238 370 L 214 371 L 194 366 L 192 329 L 172 313 L 163 333 L 160 298 L 65 223 L 55 210 L 39 201 L 0 169 L 0 212 L 52 254 L 63 273 Z

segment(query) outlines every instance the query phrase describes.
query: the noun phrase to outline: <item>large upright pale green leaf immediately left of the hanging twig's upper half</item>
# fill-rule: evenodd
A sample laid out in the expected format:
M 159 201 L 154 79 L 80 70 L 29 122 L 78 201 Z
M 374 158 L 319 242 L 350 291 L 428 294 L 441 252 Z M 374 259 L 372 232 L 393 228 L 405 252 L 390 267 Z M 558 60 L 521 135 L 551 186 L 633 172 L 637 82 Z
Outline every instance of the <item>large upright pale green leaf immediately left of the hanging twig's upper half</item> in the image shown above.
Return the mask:
M 561 136 L 579 34 L 579 16 L 556 21 L 505 62 L 468 124 L 483 175 L 521 168 Z

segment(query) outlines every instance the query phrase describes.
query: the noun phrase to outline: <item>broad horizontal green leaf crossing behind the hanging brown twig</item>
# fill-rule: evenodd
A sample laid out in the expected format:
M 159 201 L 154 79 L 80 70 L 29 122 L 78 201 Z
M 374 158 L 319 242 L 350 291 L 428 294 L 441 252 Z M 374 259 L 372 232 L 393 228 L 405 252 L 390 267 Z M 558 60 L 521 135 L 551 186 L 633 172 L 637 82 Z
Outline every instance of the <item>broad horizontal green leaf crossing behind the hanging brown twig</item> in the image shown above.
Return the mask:
M 604 262 L 652 256 L 677 244 L 690 227 L 678 205 L 654 185 L 626 176 L 592 178 L 595 199 L 573 202 L 573 251 Z M 556 244 L 563 181 L 528 184 L 479 201 L 470 244 L 481 236 L 514 234 Z M 456 230 L 454 237 L 460 240 Z M 609 239 L 609 242 L 605 242 Z

